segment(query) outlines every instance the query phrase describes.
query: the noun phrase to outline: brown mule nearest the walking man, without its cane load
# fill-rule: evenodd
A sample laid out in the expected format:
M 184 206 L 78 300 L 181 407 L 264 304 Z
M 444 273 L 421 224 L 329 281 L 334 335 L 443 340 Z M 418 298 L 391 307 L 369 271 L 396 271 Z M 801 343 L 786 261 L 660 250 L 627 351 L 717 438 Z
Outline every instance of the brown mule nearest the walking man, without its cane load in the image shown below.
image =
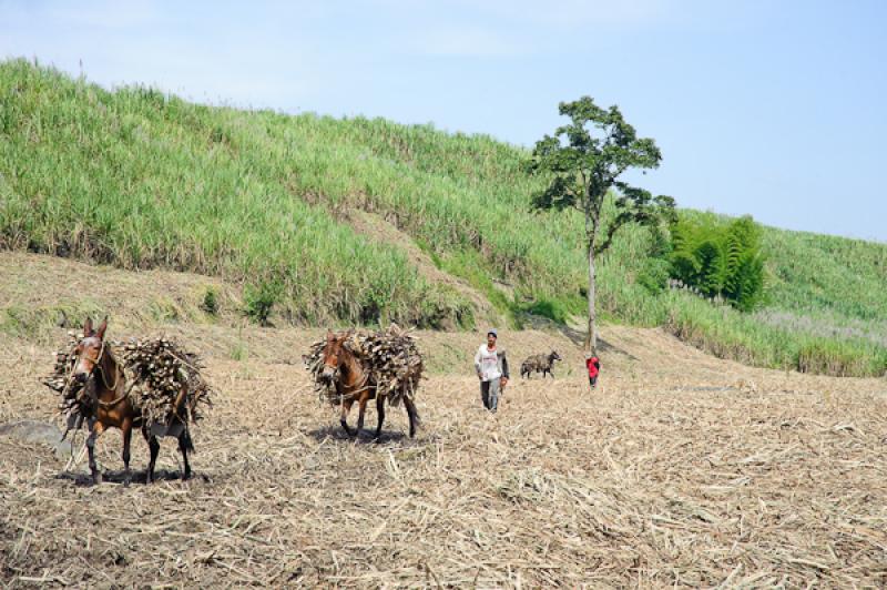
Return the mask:
M 376 427 L 376 438 L 381 436 L 381 425 L 385 421 L 385 395 L 376 396 L 376 384 L 364 370 L 360 362 L 354 353 L 345 346 L 348 333 L 336 335 L 327 330 L 326 346 L 324 347 L 324 368 L 320 372 L 320 380 L 335 385 L 336 393 L 341 399 L 341 427 L 348 436 L 359 436 L 364 428 L 364 415 L 367 409 L 367 401 L 376 399 L 376 414 L 378 415 L 378 426 Z M 357 429 L 348 427 L 348 414 L 351 406 L 357 401 Z M 404 406 L 407 408 L 409 417 L 409 437 L 416 436 L 416 427 L 419 425 L 419 413 L 416 404 L 407 396 L 404 396 Z

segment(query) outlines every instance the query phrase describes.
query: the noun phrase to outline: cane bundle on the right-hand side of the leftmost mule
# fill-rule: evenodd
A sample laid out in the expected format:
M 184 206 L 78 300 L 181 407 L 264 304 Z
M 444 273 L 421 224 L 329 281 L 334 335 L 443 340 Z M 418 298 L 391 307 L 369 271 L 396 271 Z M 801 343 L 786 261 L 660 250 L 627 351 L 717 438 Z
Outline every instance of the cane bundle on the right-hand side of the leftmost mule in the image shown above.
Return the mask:
M 115 344 L 123 350 L 129 395 L 149 427 L 169 425 L 173 417 L 196 421 L 200 404 L 212 404 L 213 389 L 201 375 L 196 354 L 166 338 Z

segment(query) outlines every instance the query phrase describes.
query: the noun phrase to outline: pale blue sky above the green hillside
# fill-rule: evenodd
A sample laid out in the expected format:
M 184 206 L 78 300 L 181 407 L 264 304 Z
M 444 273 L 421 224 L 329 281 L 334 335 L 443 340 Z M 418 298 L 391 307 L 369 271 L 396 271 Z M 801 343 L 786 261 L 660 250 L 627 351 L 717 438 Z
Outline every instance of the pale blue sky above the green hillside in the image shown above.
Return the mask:
M 77 4 L 0 0 L 0 57 L 528 146 L 588 94 L 656 140 L 642 185 L 681 206 L 887 242 L 887 2 Z

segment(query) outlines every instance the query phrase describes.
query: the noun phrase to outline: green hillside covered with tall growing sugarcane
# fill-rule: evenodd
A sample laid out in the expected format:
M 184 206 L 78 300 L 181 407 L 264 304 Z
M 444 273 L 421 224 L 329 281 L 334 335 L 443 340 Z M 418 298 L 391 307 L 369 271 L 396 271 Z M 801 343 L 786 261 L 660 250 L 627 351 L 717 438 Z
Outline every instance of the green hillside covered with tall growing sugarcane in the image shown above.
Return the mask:
M 0 247 L 218 276 L 276 323 L 488 321 L 462 286 L 512 324 L 583 308 L 582 221 L 530 213 L 541 181 L 522 172 L 527 152 L 491 138 L 109 92 L 22 60 L 0 63 Z M 766 228 L 768 303 L 742 315 L 645 287 L 653 242 L 631 228 L 603 257 L 608 321 L 756 365 L 887 369 L 887 245 Z

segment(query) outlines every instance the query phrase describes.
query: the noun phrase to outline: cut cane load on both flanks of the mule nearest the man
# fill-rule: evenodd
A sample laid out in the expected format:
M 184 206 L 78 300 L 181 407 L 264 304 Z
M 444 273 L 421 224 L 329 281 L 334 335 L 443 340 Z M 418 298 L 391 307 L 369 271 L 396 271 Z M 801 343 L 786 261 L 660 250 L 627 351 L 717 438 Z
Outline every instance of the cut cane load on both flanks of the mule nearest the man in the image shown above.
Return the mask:
M 335 387 L 327 388 L 319 378 L 324 369 L 325 346 L 326 340 L 315 342 L 303 359 L 314 378 L 315 389 L 330 404 L 338 404 L 340 400 Z M 369 375 L 367 380 L 375 385 L 376 395 L 388 397 L 392 406 L 400 404 L 404 396 L 415 396 L 425 366 L 416 339 L 407 330 L 391 324 L 386 330 L 349 332 L 344 346 Z

